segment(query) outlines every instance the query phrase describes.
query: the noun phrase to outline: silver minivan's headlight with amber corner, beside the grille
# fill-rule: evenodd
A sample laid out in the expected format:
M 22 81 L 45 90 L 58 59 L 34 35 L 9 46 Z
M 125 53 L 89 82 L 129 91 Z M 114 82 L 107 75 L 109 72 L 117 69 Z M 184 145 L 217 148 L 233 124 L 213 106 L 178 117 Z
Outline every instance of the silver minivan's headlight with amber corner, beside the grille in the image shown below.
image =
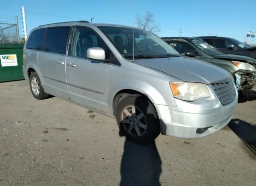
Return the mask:
M 170 82 L 172 94 L 175 98 L 185 101 L 195 101 L 199 98 L 210 97 L 210 92 L 204 83 Z

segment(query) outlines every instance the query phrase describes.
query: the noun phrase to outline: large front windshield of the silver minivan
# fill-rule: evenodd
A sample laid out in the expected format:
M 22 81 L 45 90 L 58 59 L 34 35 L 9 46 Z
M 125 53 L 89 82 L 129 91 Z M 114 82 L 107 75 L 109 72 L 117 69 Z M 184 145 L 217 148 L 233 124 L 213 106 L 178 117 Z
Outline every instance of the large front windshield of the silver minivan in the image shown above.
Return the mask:
M 132 59 L 133 46 L 135 59 L 181 56 L 174 48 L 148 31 L 116 26 L 98 26 L 98 28 L 124 58 Z

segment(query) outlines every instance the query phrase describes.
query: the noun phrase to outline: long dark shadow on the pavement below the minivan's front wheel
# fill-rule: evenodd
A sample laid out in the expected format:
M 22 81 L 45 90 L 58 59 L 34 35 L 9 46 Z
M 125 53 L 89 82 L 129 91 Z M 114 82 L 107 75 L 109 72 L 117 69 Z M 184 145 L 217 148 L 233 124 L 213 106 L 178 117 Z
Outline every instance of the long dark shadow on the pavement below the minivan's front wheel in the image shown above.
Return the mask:
M 138 99 L 135 100 L 136 107 L 137 104 Z M 147 102 L 145 104 L 146 108 L 149 108 Z M 150 118 L 150 120 L 154 120 L 158 124 L 158 118 L 153 116 L 153 114 L 144 114 L 146 118 Z M 120 130 L 119 135 L 124 136 L 124 132 Z M 155 141 L 147 145 L 139 145 L 130 142 L 126 138 L 120 165 L 120 186 L 161 186 L 159 180 L 162 173 L 161 165 L 162 161 Z

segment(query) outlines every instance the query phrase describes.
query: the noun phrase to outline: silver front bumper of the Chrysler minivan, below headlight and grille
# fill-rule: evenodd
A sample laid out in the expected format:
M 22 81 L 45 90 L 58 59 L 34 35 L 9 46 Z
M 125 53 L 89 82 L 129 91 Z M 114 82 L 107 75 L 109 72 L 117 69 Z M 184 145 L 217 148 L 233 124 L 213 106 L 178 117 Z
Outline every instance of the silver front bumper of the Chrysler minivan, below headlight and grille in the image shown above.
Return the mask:
M 155 104 L 160 119 L 161 134 L 198 138 L 216 132 L 230 122 L 238 102 L 238 92 L 236 98 L 227 105 L 222 105 L 214 94 L 210 98 L 201 98 L 194 102 L 179 99 L 175 101 L 176 107 Z M 203 132 L 197 132 L 201 128 L 204 128 Z

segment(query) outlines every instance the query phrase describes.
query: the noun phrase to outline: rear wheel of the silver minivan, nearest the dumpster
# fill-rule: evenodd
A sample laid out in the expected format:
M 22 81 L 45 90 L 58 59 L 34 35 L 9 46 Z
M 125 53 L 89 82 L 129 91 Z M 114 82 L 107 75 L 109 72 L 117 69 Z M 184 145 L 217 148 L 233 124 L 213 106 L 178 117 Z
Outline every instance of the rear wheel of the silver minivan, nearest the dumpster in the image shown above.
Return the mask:
M 43 100 L 48 98 L 50 94 L 44 92 L 39 76 L 36 72 L 32 72 L 29 77 L 30 90 L 34 98 Z

